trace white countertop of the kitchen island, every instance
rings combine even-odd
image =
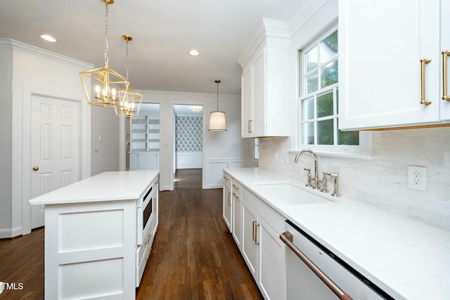
[[[139,199],[159,170],[103,172],[29,201],[30,205]]]

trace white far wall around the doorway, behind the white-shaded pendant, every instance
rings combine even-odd
[[[248,161],[252,140],[240,138],[240,96],[219,95],[219,110],[226,115],[227,131],[208,131],[210,112],[216,110],[217,94],[139,91],[144,103],[160,104],[160,188],[173,190],[174,170],[174,104],[203,105],[203,188],[210,184],[207,164],[214,159]]]

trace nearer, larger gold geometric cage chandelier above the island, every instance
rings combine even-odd
[[[108,4],[113,4],[114,0],[101,1],[105,2],[105,65],[79,72],[79,76],[89,104],[104,108],[120,107],[117,92],[123,89],[127,91],[129,81],[108,66]],[[95,84],[94,97],[87,90],[86,83]]]

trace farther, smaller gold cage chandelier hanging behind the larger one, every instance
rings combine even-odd
[[[129,41],[133,40],[133,37],[129,35],[122,35],[122,39],[127,41],[127,80],[128,80],[128,48]],[[115,107],[115,114],[120,117],[136,117],[139,115],[139,108],[141,107],[142,95],[133,89],[122,89],[119,91],[120,107]]]

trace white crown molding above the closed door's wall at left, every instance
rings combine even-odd
[[[42,58],[48,58],[50,60],[56,60],[60,63],[66,63],[68,65],[74,65],[76,67],[81,67],[84,69],[93,68],[94,65],[90,63],[84,63],[81,60],[76,60],[75,58],[69,58],[68,56],[63,56],[55,52],[51,52],[48,50],[44,50],[42,48],[38,48],[36,46],[31,46],[25,44],[21,41],[15,41],[14,39],[4,39],[0,38],[0,48],[11,48],[13,50],[24,51],[27,53],[32,53],[36,56],[40,56]]]

